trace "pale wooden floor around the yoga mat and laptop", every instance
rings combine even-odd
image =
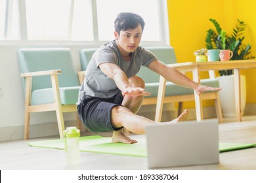
[[[223,124],[219,124],[219,141],[256,143],[256,116],[244,116],[242,120],[243,122],[234,122],[234,119],[224,119]],[[100,135],[110,136],[110,133],[103,133]],[[144,138],[143,135],[132,135],[132,137],[138,141],[139,139]],[[28,141],[1,142],[0,169],[148,169],[147,158],[94,154],[89,152],[81,152],[80,165],[70,166],[66,163],[66,154],[64,150],[35,148],[28,146],[29,141],[41,141],[56,138],[57,137],[30,139]],[[256,148],[223,152],[220,154],[219,158],[219,164],[190,167],[170,167],[165,169],[256,169]]]

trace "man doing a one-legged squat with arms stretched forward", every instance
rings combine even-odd
[[[150,95],[144,90],[142,78],[136,76],[141,65],[175,84],[194,89],[198,95],[208,90],[221,90],[190,80],[139,46],[143,29],[144,20],[138,14],[118,14],[114,31],[116,39],[102,45],[93,54],[79,91],[77,112],[83,124],[90,131],[113,131],[112,142],[137,142],[123,133],[123,127],[143,134],[146,125],[156,124],[137,115],[144,95]],[[184,120],[187,115],[188,110],[184,110],[170,123]]]

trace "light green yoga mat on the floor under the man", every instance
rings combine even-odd
[[[54,148],[64,150],[64,140],[56,139],[49,141],[29,142],[30,146],[40,148]],[[101,137],[99,135],[79,137],[80,150],[83,152],[95,152],[102,154],[116,154],[123,156],[146,157],[146,140],[139,139],[135,144],[112,143],[111,137]],[[219,151],[238,150],[249,148],[256,144],[235,144],[235,143],[219,143]]]

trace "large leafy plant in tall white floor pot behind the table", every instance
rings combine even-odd
[[[219,23],[214,19],[209,19],[213,25],[214,29],[209,29],[205,37],[206,48],[209,49],[221,49],[221,50],[231,50],[233,56],[230,60],[242,60],[242,59],[253,59],[251,56],[251,45],[243,44],[245,39],[244,30],[246,24],[244,22],[237,20],[236,27],[232,30],[232,34],[228,35],[226,31],[221,29]],[[236,109],[234,102],[234,76],[233,70],[223,70],[219,71],[220,77],[219,84],[222,90],[219,92],[221,99],[221,109],[223,110],[224,117],[236,116]],[[244,108],[246,103],[246,83],[245,76],[241,76],[241,97],[242,97],[242,114],[244,114]]]

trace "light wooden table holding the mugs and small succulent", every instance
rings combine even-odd
[[[232,61],[207,61],[207,62],[186,62],[170,64],[170,67],[186,72],[192,71],[193,80],[200,83],[200,72],[210,71],[210,77],[213,78],[214,71],[234,69],[234,92],[236,99],[236,120],[242,121],[241,109],[241,90],[240,90],[240,69],[250,69],[256,67],[256,59],[251,60],[232,60]],[[160,76],[160,86],[158,89],[158,102],[156,105],[156,121],[160,121],[163,107],[163,100],[165,95],[165,78]],[[203,120],[202,97],[194,93],[196,104],[196,120],[198,122]]]

